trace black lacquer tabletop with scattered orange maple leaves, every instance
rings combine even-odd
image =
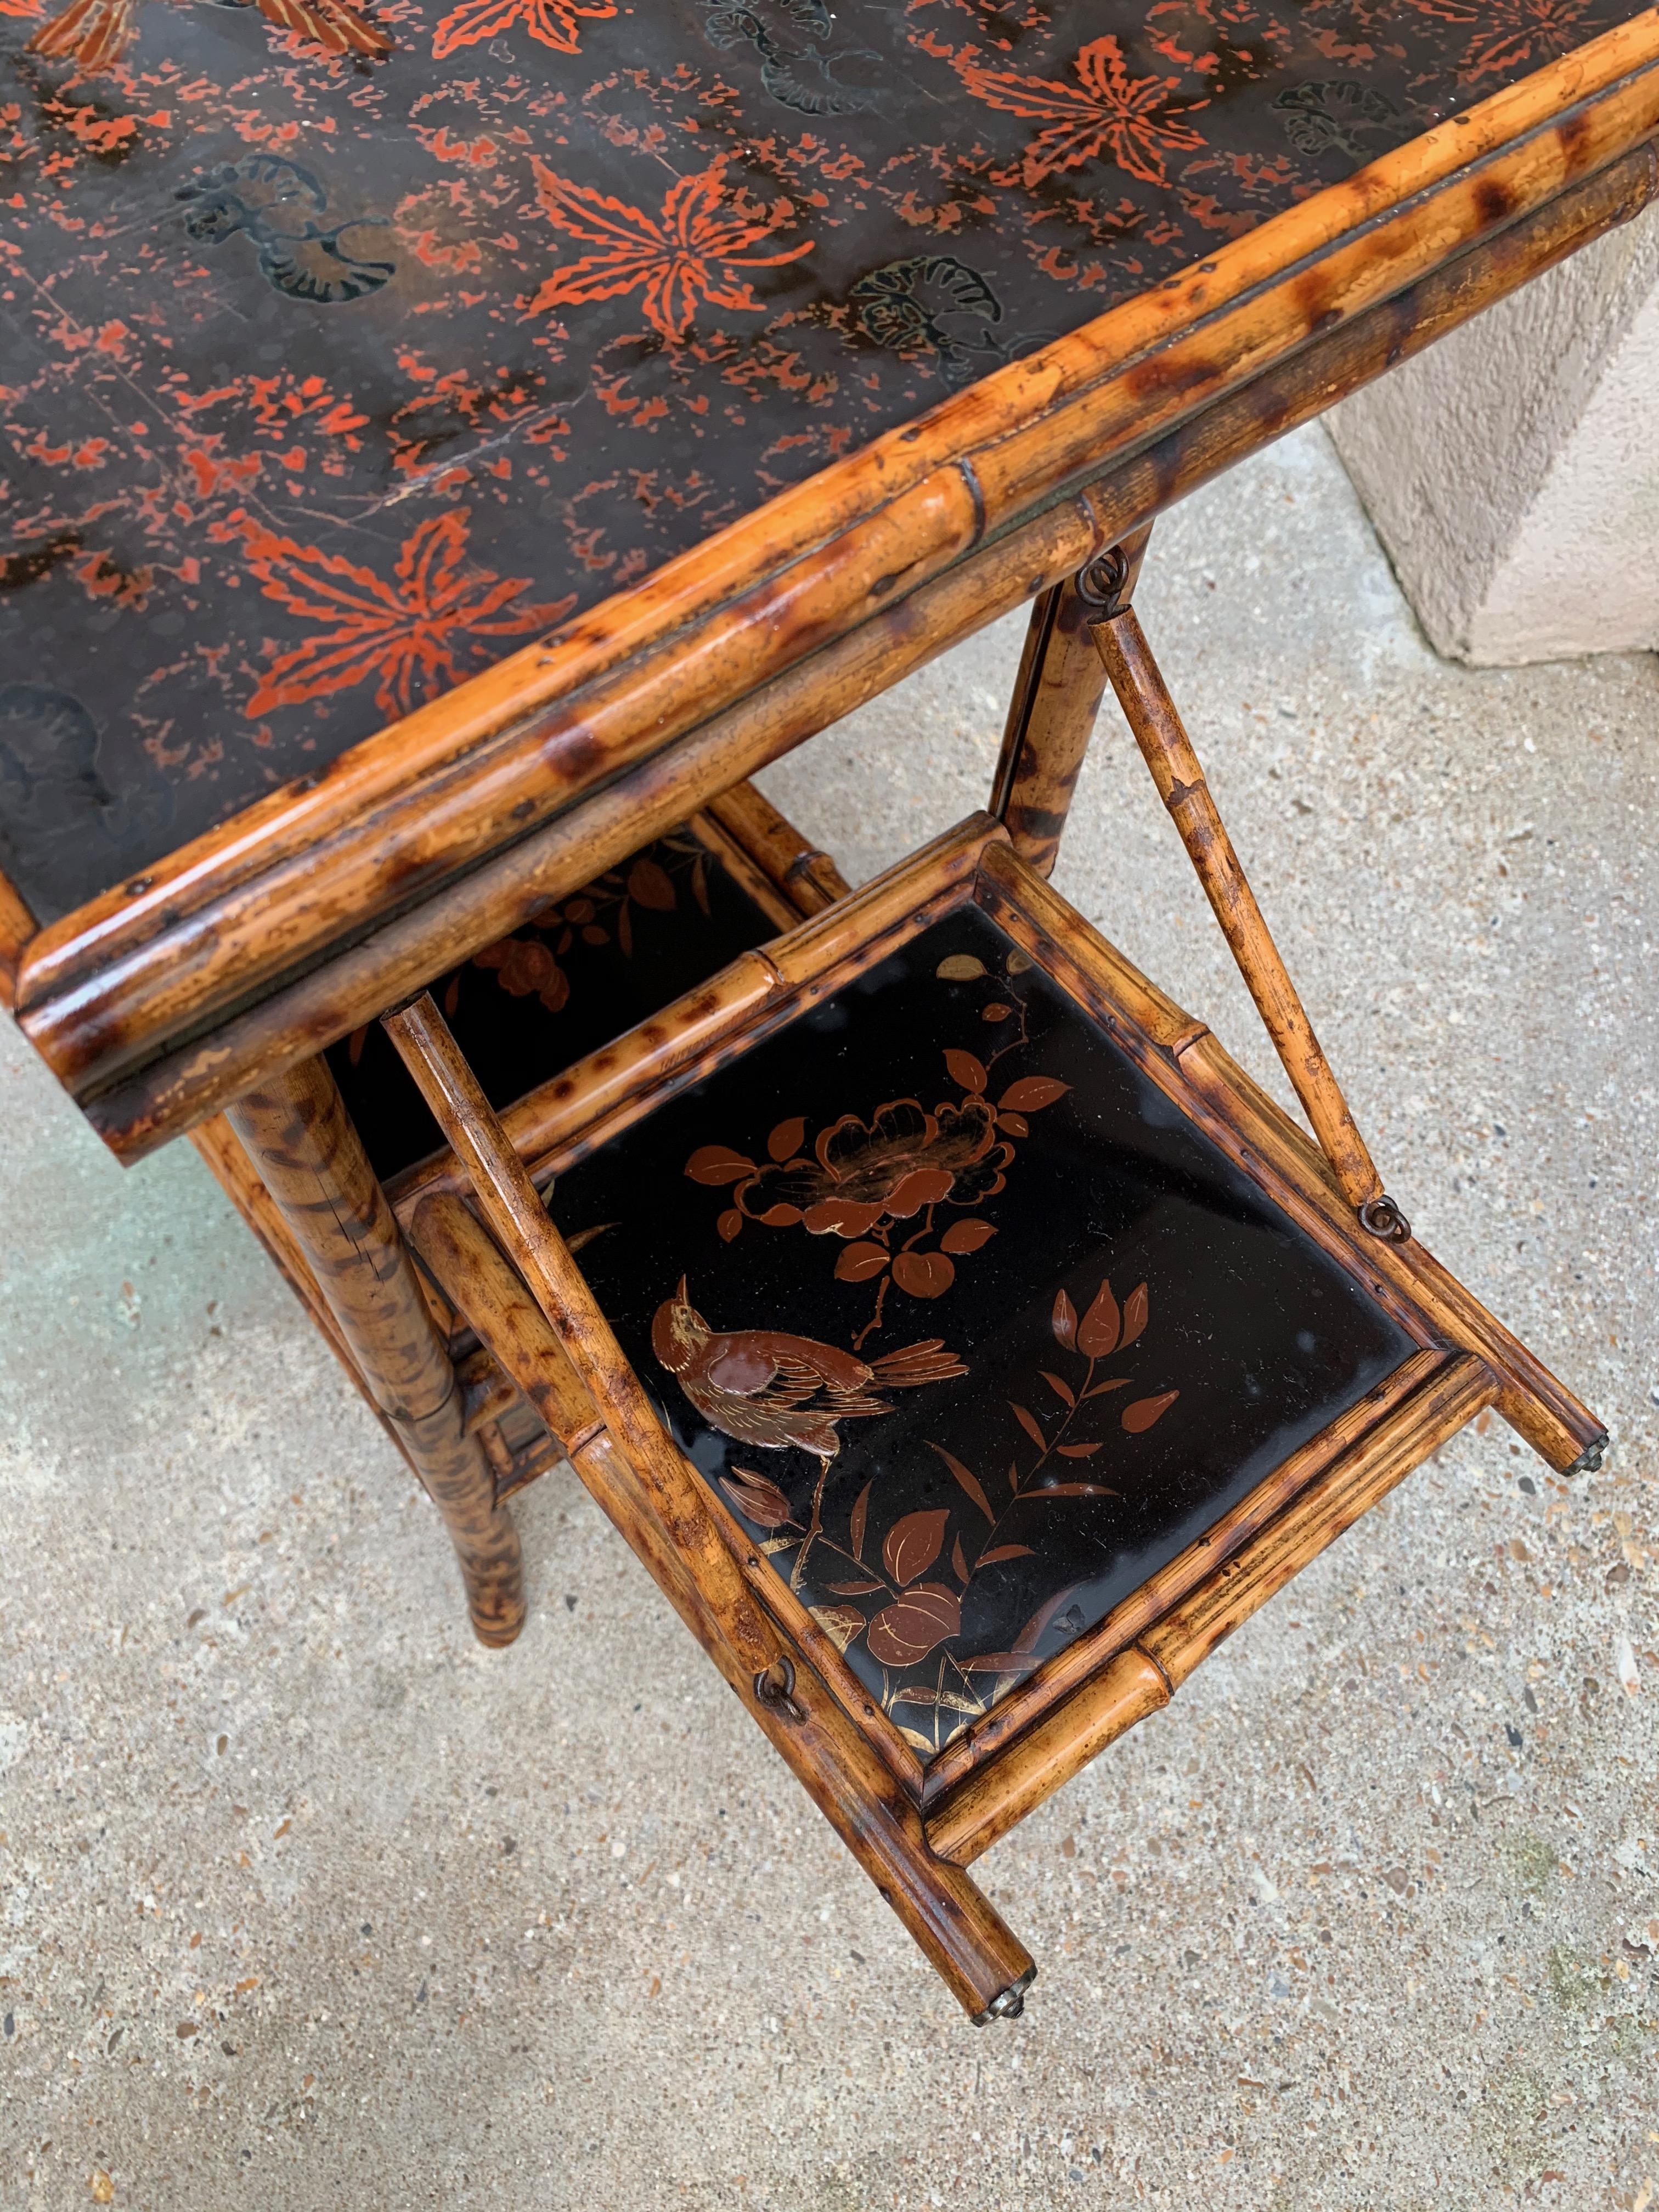
[[[0,0],[0,869],[62,914],[1630,13]]]

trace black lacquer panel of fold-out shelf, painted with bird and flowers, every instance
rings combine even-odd
[[[551,1203],[922,1759],[1416,1349],[978,909]]]

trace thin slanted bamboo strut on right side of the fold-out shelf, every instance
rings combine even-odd
[[[1117,701],[1152,770],[1159,799],[1170,810],[1199,883],[1250,987],[1274,1051],[1296,1086],[1314,1135],[1329,1159],[1343,1197],[1374,1237],[1405,1243],[1411,1234],[1400,1208],[1383,1190],[1383,1177],[1365,1150],[1314,1024],[1279,958],[1256,894],[1232,849],[1232,838],[1203,781],[1203,768],[1170,699],[1133,606],[1097,602],[1093,639],[1106,664]]]

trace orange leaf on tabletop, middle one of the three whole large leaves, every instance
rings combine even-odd
[[[619,299],[644,285],[650,327],[664,338],[684,338],[699,299],[743,314],[763,312],[763,301],[737,274],[739,270],[772,270],[812,252],[812,239],[781,254],[745,252],[787,223],[794,206],[779,199],[772,208],[763,208],[741,188],[728,195],[726,157],[692,177],[677,177],[661,215],[646,215],[644,208],[630,208],[588,184],[571,184],[540,161],[533,166],[546,219],[593,252],[555,268],[531,301],[531,314]]]

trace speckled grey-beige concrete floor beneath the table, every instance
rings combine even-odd
[[[1425,1241],[1606,1416],[1493,1422],[980,1867],[975,2033],[568,1475],[482,1652],[215,1183],[0,1044],[0,2201],[1646,2212],[1659,2188],[1659,661],[1442,666],[1321,434],[1141,611]],[[975,805],[1020,622],[772,772]],[[1126,734],[1062,887],[1272,1077]]]

